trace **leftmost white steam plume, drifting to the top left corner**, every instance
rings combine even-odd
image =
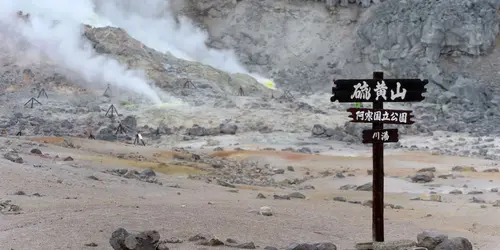
[[[81,23],[92,16],[93,8],[88,0],[3,0],[0,38],[5,41],[8,37],[18,37],[28,42],[58,67],[77,73],[88,83],[109,83],[161,103],[157,90],[153,90],[141,72],[127,70],[116,60],[97,55],[82,39]],[[30,13],[30,22],[21,21],[17,11]],[[54,20],[59,23],[55,25]]]

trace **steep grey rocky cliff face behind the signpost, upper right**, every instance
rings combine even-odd
[[[206,27],[215,48],[235,48],[285,88],[328,92],[333,78],[427,78],[420,117],[430,130],[500,130],[500,1],[173,1]],[[443,112],[441,112],[443,111]],[[453,126],[436,120],[453,119]],[[455,122],[456,121],[456,122]],[[485,124],[483,124],[485,123]]]

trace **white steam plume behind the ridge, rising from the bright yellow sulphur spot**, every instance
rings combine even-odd
[[[100,17],[125,29],[144,45],[160,52],[170,52],[175,57],[197,61],[229,73],[243,73],[258,82],[269,81],[249,72],[238,60],[233,50],[208,48],[207,32],[185,18],[176,22],[169,0],[94,0]]]

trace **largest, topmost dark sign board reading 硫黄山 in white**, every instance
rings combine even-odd
[[[420,102],[428,80],[420,79],[345,79],[335,80],[331,102]]]

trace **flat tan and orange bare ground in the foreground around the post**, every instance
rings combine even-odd
[[[72,148],[67,147],[68,140]],[[216,156],[223,162],[229,160],[222,158],[267,162],[277,173],[273,178],[278,183],[306,179],[299,184],[265,187],[193,178],[214,167],[189,161],[193,154],[184,152],[79,138],[3,137],[0,144],[4,145],[4,157],[0,159],[2,204],[10,200],[19,208],[12,213],[5,208],[7,205],[2,207],[2,249],[112,249],[109,238],[120,227],[130,231],[157,230],[164,239],[178,239],[169,241],[177,242],[168,244],[170,249],[203,249],[188,240],[197,234],[279,249],[293,242],[325,241],[335,243],[339,249],[353,249],[355,243],[371,239],[371,209],[366,202],[371,192],[345,188],[370,181],[369,157],[262,150],[198,150],[195,155],[202,159]],[[22,160],[16,160],[19,157]],[[424,167],[436,167],[436,176],[448,174],[459,162],[474,166],[477,172],[453,172],[453,178],[436,178],[428,186],[405,179]],[[465,187],[462,183],[474,190],[484,190],[483,182],[500,186],[500,174],[481,172],[494,164],[472,158],[389,151],[385,197],[392,205],[385,210],[387,240],[414,240],[422,230],[435,229],[467,237],[477,249],[495,249],[500,243],[500,219],[496,216],[499,208],[488,202],[500,199],[498,194],[457,195],[443,191],[446,185]],[[145,181],[148,176],[141,175],[151,174],[144,170],[150,167],[156,176],[154,181]],[[130,169],[135,174],[120,176],[114,169]],[[441,202],[423,195],[431,190],[442,193]],[[471,202],[472,196],[487,202]],[[272,208],[273,215],[260,215],[262,206]]]

